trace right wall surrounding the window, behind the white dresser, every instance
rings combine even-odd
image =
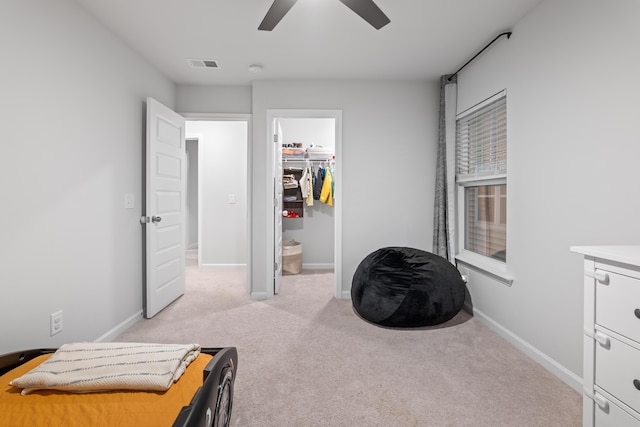
[[[549,0],[459,75],[459,111],[503,88],[512,287],[472,272],[480,318],[580,388],[582,261],[638,244],[640,2]]]

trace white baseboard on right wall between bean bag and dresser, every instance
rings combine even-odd
[[[486,325],[489,329],[511,343],[518,350],[522,351],[531,359],[542,365],[553,375],[560,378],[569,387],[582,394],[582,378],[580,378],[528,342],[524,341],[522,338],[515,335],[513,332],[509,331],[481,311],[474,309],[473,316],[477,318],[482,324]]]

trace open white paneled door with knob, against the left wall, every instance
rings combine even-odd
[[[144,316],[184,294],[184,118],[147,98]]]

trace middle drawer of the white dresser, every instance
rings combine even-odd
[[[640,350],[601,332],[597,335],[596,385],[640,412]]]

